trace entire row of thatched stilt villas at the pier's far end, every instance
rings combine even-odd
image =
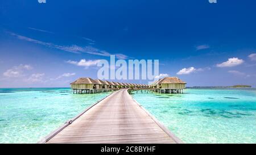
[[[75,94],[94,94],[115,91],[119,89],[130,89],[131,91],[148,90],[155,93],[172,94],[183,93],[185,82],[177,77],[165,77],[156,80],[151,85],[110,82],[101,79],[79,78],[71,83],[71,88]]]

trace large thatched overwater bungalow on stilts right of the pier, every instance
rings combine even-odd
[[[186,84],[177,77],[165,77],[153,82],[151,87],[156,89],[158,93],[183,93]]]

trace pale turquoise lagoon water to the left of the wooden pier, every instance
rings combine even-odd
[[[0,143],[37,143],[108,94],[68,88],[0,89]]]

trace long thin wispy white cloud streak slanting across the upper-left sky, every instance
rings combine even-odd
[[[44,41],[31,39],[31,38],[26,37],[26,36],[17,35],[16,33],[13,33],[13,32],[9,32],[9,33],[11,35],[17,37],[20,40],[30,41],[31,43],[44,45],[44,46],[49,47],[49,48],[60,49],[62,51],[66,51],[66,52],[88,53],[90,55],[98,55],[98,56],[106,56],[106,57],[109,57],[110,55],[112,55],[107,51],[103,51],[103,50],[100,50],[98,48],[94,48],[94,47],[91,47],[91,46],[80,47],[78,45],[71,45],[71,46],[56,45],[56,44],[53,44],[53,43],[47,43],[47,42],[44,42]],[[115,55],[117,58],[121,58],[121,59],[128,58],[128,56],[120,54],[120,53],[113,54],[113,55]]]

